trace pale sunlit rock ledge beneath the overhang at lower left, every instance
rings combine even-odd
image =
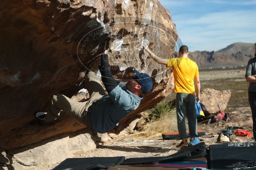
[[[86,128],[79,132],[59,135],[12,150],[8,154],[2,152],[0,163],[5,165],[15,163],[15,166],[19,167],[18,169],[23,166],[54,164],[73,157],[73,154],[95,149],[99,142],[102,142],[102,140],[107,142],[109,138],[107,133],[97,135],[92,128]]]

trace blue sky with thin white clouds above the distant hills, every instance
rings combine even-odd
[[[189,51],[256,42],[256,0],[158,0]]]

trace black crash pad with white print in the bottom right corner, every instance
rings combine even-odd
[[[256,170],[256,143],[210,145],[207,162],[212,170]]]

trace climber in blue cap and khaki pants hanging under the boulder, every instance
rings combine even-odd
[[[100,62],[98,60],[96,63],[108,94],[96,75],[90,71],[84,79],[85,88],[90,95],[88,101],[76,102],[67,96],[54,94],[50,98],[47,112],[34,113],[36,119],[50,122],[59,117],[60,111],[63,110],[87,127],[93,127],[99,133],[106,133],[115,128],[132,110],[137,109],[143,98],[141,95],[152,89],[152,78],[136,69],[132,80],[127,83],[116,81],[110,71],[107,50],[100,55]]]

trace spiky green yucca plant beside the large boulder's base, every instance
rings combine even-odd
[[[152,108],[151,113],[148,115],[148,119],[159,119],[162,114],[170,114],[176,110],[175,99],[168,103],[158,103]]]

